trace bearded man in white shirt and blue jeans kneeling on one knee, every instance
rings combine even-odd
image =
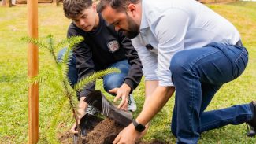
[[[255,130],[256,102],[204,112],[217,90],[247,66],[247,50],[228,20],[195,0],[101,0],[98,10],[134,38],[150,95],[113,143],[135,143],[175,90],[171,129],[177,143],[197,143],[203,131],[227,124],[246,122]]]

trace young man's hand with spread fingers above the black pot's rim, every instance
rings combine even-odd
[[[122,101],[118,105],[119,109],[127,110],[128,96],[130,91],[131,87],[129,87],[126,83],[122,84],[122,86],[119,88],[113,88],[112,90],[109,90],[110,93],[117,94],[113,102],[116,102],[118,98],[122,98]]]

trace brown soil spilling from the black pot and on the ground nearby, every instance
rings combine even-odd
[[[106,118],[102,120],[92,131],[88,131],[87,136],[83,138],[83,143],[86,144],[111,144],[118,135],[118,133],[124,127],[120,124],[115,123],[114,120]],[[59,137],[61,143],[72,143],[72,133],[66,132]],[[153,142],[136,142],[136,144],[164,144],[165,142],[160,142],[154,140]]]

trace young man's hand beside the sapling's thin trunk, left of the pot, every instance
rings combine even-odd
[[[86,102],[84,102],[85,97],[81,97],[79,104],[78,104],[78,109],[77,109],[77,123],[80,124],[80,120],[81,118],[86,114],[85,113],[85,109],[87,109],[88,105]],[[73,124],[73,126],[71,127],[71,130],[73,134],[77,134],[78,131],[76,131],[76,123]]]

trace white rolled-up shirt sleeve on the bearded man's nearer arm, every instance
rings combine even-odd
[[[159,86],[174,86],[170,63],[173,55],[184,50],[184,37],[187,33],[189,16],[180,9],[171,9],[161,13],[161,17],[152,20],[156,26],[154,33],[158,39],[158,70]]]

